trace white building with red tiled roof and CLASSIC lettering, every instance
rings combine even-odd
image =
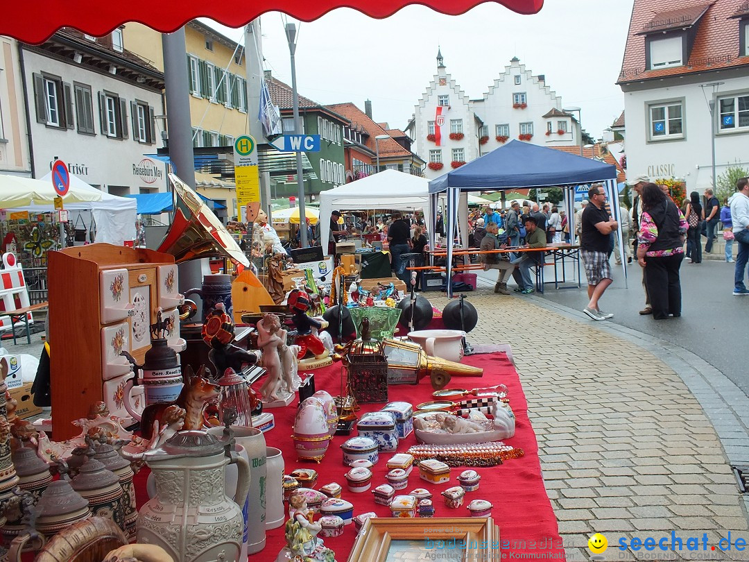
[[[749,167],[749,4],[635,0],[622,70],[627,174],[712,187]],[[712,107],[712,116],[711,116]]]

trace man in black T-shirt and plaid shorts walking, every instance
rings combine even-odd
[[[588,297],[590,302],[583,309],[593,320],[613,318],[611,312],[598,308],[598,299],[611,284],[611,266],[608,261],[610,234],[619,228],[616,220],[604,208],[606,190],[602,184],[592,184],[588,190],[590,204],[581,217],[580,255],[585,264],[585,276],[588,278]]]

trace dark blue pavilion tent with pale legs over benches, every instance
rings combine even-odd
[[[460,168],[440,175],[429,182],[432,208],[437,208],[437,197],[446,193],[447,234],[447,292],[452,296],[452,244],[458,225],[458,198],[464,191],[496,191],[527,189],[534,187],[561,187],[565,193],[565,208],[570,232],[574,232],[574,188],[580,184],[601,183],[607,191],[611,213],[619,221],[619,192],[616,188],[616,166],[557,151],[554,148],[531,145],[512,140]],[[436,217],[431,217],[434,232]],[[622,232],[619,236],[619,252],[622,253]],[[625,280],[627,270],[624,268]]]

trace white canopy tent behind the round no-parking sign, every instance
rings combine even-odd
[[[49,184],[52,189],[52,172],[41,178],[40,183]],[[122,246],[126,240],[136,238],[136,208],[138,202],[127,197],[118,197],[91,187],[78,176],[70,174],[70,190],[76,193],[88,193],[91,201],[70,203],[63,199],[64,208],[68,211],[91,211],[96,223],[96,238],[94,242],[106,242],[115,246]],[[98,197],[98,199],[96,199]],[[34,213],[53,210],[52,203],[46,205],[30,205],[24,208]]]

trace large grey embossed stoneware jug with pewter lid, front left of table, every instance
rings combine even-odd
[[[143,455],[156,479],[157,495],[140,510],[138,543],[161,546],[180,562],[239,560],[249,463],[234,452],[233,444],[230,438],[190,430],[175,433]],[[233,500],[226,496],[224,482],[230,462],[239,468]]]

